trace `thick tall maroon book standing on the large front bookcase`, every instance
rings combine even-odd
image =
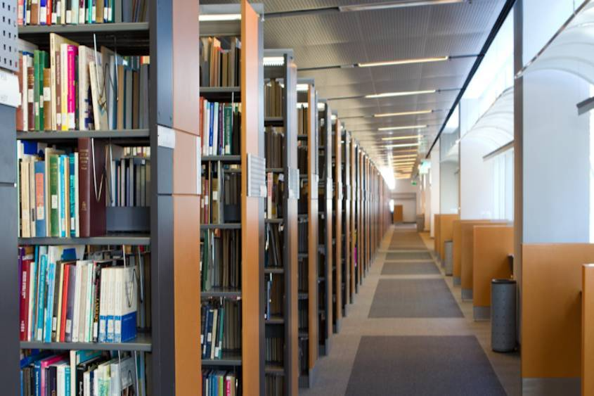
[[[80,236],[105,235],[105,142],[78,139]],[[103,188],[101,188],[103,186]]]

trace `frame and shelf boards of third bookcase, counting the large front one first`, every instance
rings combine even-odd
[[[266,320],[266,336],[284,338],[283,364],[279,367],[266,365],[266,376],[284,376],[283,395],[297,395],[299,392],[299,326],[297,319],[297,199],[299,198],[299,170],[297,169],[297,65],[290,49],[264,50],[265,59],[282,58],[283,62],[264,66],[265,79],[278,79],[283,82],[282,116],[265,117],[266,127],[282,127],[282,168],[277,172],[283,174],[283,213],[280,222],[269,226],[283,228],[283,262],[282,272],[266,274],[264,277],[281,278],[283,285],[283,315],[280,318]],[[267,172],[270,169],[268,161]],[[266,220],[268,222],[268,220]],[[266,269],[265,269],[266,272]],[[273,280],[274,281],[274,280]],[[265,290],[262,290],[265,293]],[[278,320],[282,319],[282,320]],[[266,390],[266,395],[274,395],[273,390]],[[278,395],[280,396],[280,395]]]

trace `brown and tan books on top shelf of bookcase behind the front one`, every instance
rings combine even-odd
[[[200,39],[200,87],[239,87],[241,42],[237,37]]]

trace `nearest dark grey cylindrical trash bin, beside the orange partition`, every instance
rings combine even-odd
[[[491,281],[491,349],[511,352],[516,347],[516,281]]]

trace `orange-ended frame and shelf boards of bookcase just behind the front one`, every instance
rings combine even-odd
[[[241,43],[240,87],[204,87],[200,94],[208,101],[241,102],[240,155],[203,157],[202,162],[240,165],[241,193],[240,290],[228,293],[202,293],[202,300],[231,298],[241,302],[241,351],[223,354],[223,359],[202,359],[202,367],[238,373],[243,395],[264,393],[264,46],[262,41],[262,4],[217,4],[200,7],[202,15],[240,14],[240,20],[214,20],[200,23],[200,37],[239,37]],[[195,111],[192,110],[192,111]],[[249,180],[249,183],[248,183]],[[248,189],[250,189],[248,191]],[[227,224],[209,229],[228,229]],[[207,227],[202,227],[206,230]],[[195,342],[198,342],[196,340]],[[196,373],[194,373],[196,375]]]

